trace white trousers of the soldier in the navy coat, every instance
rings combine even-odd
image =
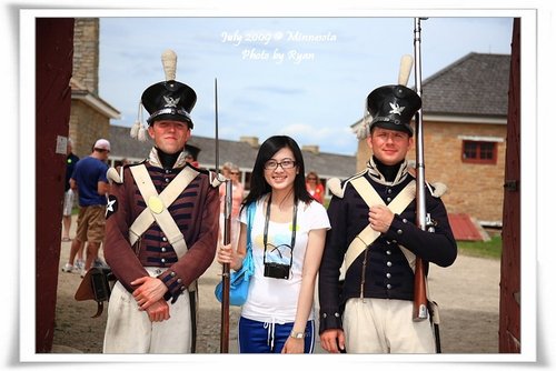
[[[354,298],[346,302],[344,333],[348,353],[435,353],[429,319],[413,321],[413,302]]]

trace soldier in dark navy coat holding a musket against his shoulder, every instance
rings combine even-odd
[[[375,89],[367,97],[373,156],[364,171],[329,181],[331,229],[318,283],[320,344],[328,352],[436,351],[431,322],[413,320],[411,263],[419,257],[426,267],[448,267],[457,245],[440,188],[426,187],[434,232],[416,225],[415,178],[406,156],[420,107],[419,96],[404,86]]]

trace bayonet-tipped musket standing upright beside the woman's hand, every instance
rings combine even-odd
[[[218,82],[215,79],[215,138],[216,138],[216,171],[219,172],[219,146],[218,146]],[[226,197],[224,203],[224,244],[230,243],[231,230],[231,181],[226,179]],[[230,338],[230,264],[222,264],[222,303],[220,318],[220,353],[228,353]]]

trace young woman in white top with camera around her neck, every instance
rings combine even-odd
[[[330,222],[306,189],[301,150],[290,137],[270,137],[259,149],[241,207],[238,249],[226,245],[217,253],[234,270],[246,254],[246,211],[252,202],[255,274],[241,308],[239,352],[311,353],[315,283]]]

